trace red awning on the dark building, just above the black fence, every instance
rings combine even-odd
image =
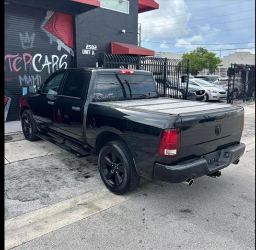
[[[154,56],[155,51],[140,47],[136,44],[111,42],[111,54]]]

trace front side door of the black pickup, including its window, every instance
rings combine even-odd
[[[60,93],[65,71],[57,72],[48,78],[39,94],[34,96],[32,111],[40,128],[52,128],[55,116],[56,96]]]

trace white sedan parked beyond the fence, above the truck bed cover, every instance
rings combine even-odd
[[[189,83],[191,85],[199,86],[205,90],[205,98],[203,99],[204,102],[210,100],[221,100],[227,98],[227,92],[225,89],[220,88],[218,86],[214,86],[212,83],[207,82],[202,79],[189,79]]]

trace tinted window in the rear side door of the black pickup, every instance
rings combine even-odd
[[[71,97],[82,97],[84,85],[88,85],[89,72],[68,72],[64,83],[62,95]]]

